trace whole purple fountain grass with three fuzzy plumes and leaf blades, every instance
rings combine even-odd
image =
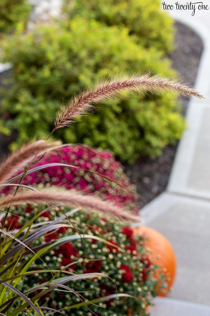
[[[164,91],[173,91],[173,92],[184,94],[188,97],[190,96],[195,96],[198,98],[203,97],[200,93],[196,92],[194,89],[186,85],[183,85],[180,82],[170,81],[169,79],[161,78],[160,76],[150,76],[149,74],[141,75],[139,73],[134,74],[132,76],[128,76],[127,74],[116,76],[113,79],[99,82],[94,88],[86,89],[85,91],[75,95],[67,106],[62,106],[60,109],[60,112],[58,112],[55,118],[54,130],[50,133],[48,138],[53,134],[53,132],[56,129],[70,125],[73,122],[73,118],[82,116],[86,112],[90,112],[93,109],[94,104],[96,104],[97,102],[109,100],[116,96],[120,96],[123,94],[123,92],[139,93],[139,92],[144,92],[144,91],[155,92],[155,93],[161,93]],[[131,211],[128,211],[126,208],[121,207],[118,204],[111,203],[110,201],[102,200],[93,194],[84,194],[81,191],[65,190],[65,189],[60,189],[58,187],[46,188],[46,189],[42,189],[42,191],[38,191],[36,188],[32,188],[29,186],[26,186],[27,189],[30,189],[28,191],[26,191],[25,189],[18,191],[19,187],[23,187],[21,183],[25,175],[27,174],[27,171],[31,167],[31,164],[36,160],[36,157],[38,158],[40,155],[44,155],[48,150],[54,149],[55,147],[58,146],[58,144],[60,144],[58,142],[49,142],[48,138],[46,141],[38,141],[36,143],[23,146],[21,149],[13,153],[8,159],[5,160],[5,162],[3,162],[0,165],[0,184],[5,184],[5,185],[6,185],[7,180],[9,179],[11,180],[11,177],[16,175],[16,173],[21,168],[24,168],[24,173],[21,174],[19,184],[17,184],[17,188],[14,194],[13,195],[6,194],[6,196],[2,196],[0,198],[0,209],[8,207],[6,214],[3,218],[2,229],[0,229],[0,239],[1,239],[1,234],[3,233],[3,237],[4,237],[3,244],[5,246],[10,247],[10,245],[7,245],[8,241],[5,238],[5,236],[10,236],[12,238],[14,237],[6,230],[3,230],[5,224],[8,225],[7,229],[11,228],[11,223],[9,224],[9,222],[7,221],[7,216],[10,213],[9,210],[10,210],[11,205],[21,205],[21,204],[28,204],[28,203],[29,204],[30,203],[32,204],[47,203],[53,206],[68,205],[70,207],[81,208],[87,212],[99,213],[101,217],[109,217],[109,219],[110,217],[114,217],[114,218],[117,217],[119,220],[126,221],[126,222],[140,221],[138,216],[134,215]],[[11,180],[10,182],[13,182],[13,180]],[[9,185],[15,185],[15,184],[12,183]],[[39,215],[40,214],[37,213],[37,216]],[[66,214],[66,217],[67,215],[68,213]],[[60,225],[63,226],[60,220],[57,218],[57,221],[59,222],[59,224],[56,222],[53,226],[52,225],[54,223],[53,221],[51,224],[50,223],[49,225],[47,224],[47,227],[45,227],[46,229],[41,229],[37,231],[36,233],[34,233],[34,231],[32,231],[33,221],[34,219],[32,218],[28,223],[25,224],[26,226],[23,227],[23,229],[26,228],[26,232],[24,232],[25,239],[23,240],[25,240],[26,242],[30,241],[30,243],[33,240],[36,240],[37,238],[39,238],[41,235],[51,231],[52,228],[57,228],[57,226],[60,227]],[[73,223],[72,225],[76,229]],[[19,230],[19,232],[21,233],[21,229]],[[15,239],[15,242],[16,241],[17,239]],[[63,240],[61,240],[61,242],[64,243]],[[1,262],[4,263],[5,267],[3,267],[4,270],[1,271],[1,275],[6,277],[6,280],[2,279],[3,281],[1,281],[2,284],[5,286],[5,288],[3,288],[3,295],[1,295],[1,297],[3,298],[4,294],[6,294],[6,299],[7,299],[8,294],[10,295],[9,291],[11,292],[13,291],[14,293],[19,295],[26,301],[25,304],[17,308],[17,314],[21,313],[25,309],[25,307],[27,307],[28,305],[31,305],[32,309],[34,309],[34,311],[38,315],[41,315],[41,313],[37,309],[38,307],[36,307],[33,304],[33,299],[38,300],[43,295],[48,294],[48,292],[50,292],[51,289],[43,289],[41,293],[35,295],[32,299],[29,299],[27,296],[23,295],[18,289],[15,289],[12,284],[6,282],[6,281],[9,281],[13,283],[13,277],[7,279],[8,275],[12,276],[14,274],[14,271],[15,273],[17,273],[17,271],[18,273],[21,273],[22,271],[21,260],[22,260],[22,255],[24,254],[24,252],[22,252],[22,248],[20,247],[20,245],[16,245],[14,243],[14,240],[11,241],[11,243],[12,243],[12,246],[14,244],[14,247],[12,247],[12,249],[9,249],[7,247],[2,247],[2,250],[4,253],[1,253]],[[24,243],[22,241],[19,241],[19,243],[24,246]],[[44,246],[46,245],[49,246],[48,243],[44,244]],[[40,247],[40,245],[38,245],[37,247]],[[43,244],[41,245],[41,247],[43,247]],[[39,249],[42,249],[42,248],[36,248],[37,251]],[[15,256],[14,256],[14,253],[15,253]],[[17,264],[19,260],[21,263],[20,265]],[[90,274],[85,274],[84,278],[87,278],[88,275]],[[96,274],[94,274],[94,277],[95,275]],[[79,277],[81,276],[80,275],[73,276],[71,278],[79,279]],[[61,281],[61,282],[62,284],[64,284],[67,281],[68,280],[65,279],[65,281]],[[43,285],[45,284],[42,284],[42,287]],[[53,286],[55,288],[57,287],[57,284]],[[37,287],[37,289],[39,289],[39,287]],[[8,294],[6,293],[6,291],[8,291]],[[124,294],[121,294],[121,295],[124,295]],[[16,297],[12,297],[7,301],[3,300],[3,304],[1,306],[2,307],[5,306],[5,308],[2,310],[2,313],[0,313],[0,315],[3,315],[4,311],[7,312],[9,310],[15,298]],[[13,311],[12,311],[12,314],[14,315]]]

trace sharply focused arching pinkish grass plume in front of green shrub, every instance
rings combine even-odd
[[[172,91],[188,97],[203,98],[193,88],[176,80],[169,80],[158,75],[150,76],[148,73],[143,75],[137,73],[131,76],[127,74],[117,75],[114,78],[99,82],[93,88],[86,89],[74,95],[67,106],[61,106],[60,111],[55,117],[54,130],[68,126],[73,122],[73,118],[91,112],[95,103],[122,96],[123,91],[129,93],[148,91],[157,94]]]

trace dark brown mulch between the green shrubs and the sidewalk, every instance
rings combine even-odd
[[[179,78],[194,86],[199,61],[202,53],[201,39],[188,27],[176,23],[176,50],[170,55],[173,68],[179,73]],[[183,114],[186,112],[188,99],[182,98]],[[125,166],[131,182],[137,186],[139,195],[146,203],[153,200],[166,190],[178,144],[167,146],[161,156],[151,159],[143,157],[134,165]],[[140,206],[145,201],[140,199]]]

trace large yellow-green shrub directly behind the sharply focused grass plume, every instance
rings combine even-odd
[[[3,61],[13,64],[14,84],[3,98],[0,131],[17,129],[17,143],[53,129],[54,111],[73,92],[117,71],[152,70],[174,74],[170,61],[155,48],[145,49],[126,28],[107,27],[76,17],[61,25],[38,27],[33,33],[7,38]],[[175,97],[133,95],[100,106],[72,129],[55,136],[68,143],[109,148],[121,161],[155,156],[181,135],[184,120]],[[4,120],[4,117],[7,120]],[[9,117],[9,118],[8,118]]]

